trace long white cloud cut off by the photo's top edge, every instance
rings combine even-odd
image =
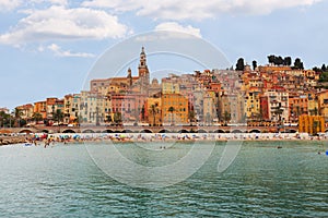
[[[87,0],[83,7],[107,8],[118,12],[136,11],[137,15],[150,16],[154,20],[203,20],[221,14],[269,14],[276,10],[307,7],[323,0]]]

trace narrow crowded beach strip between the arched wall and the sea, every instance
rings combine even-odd
[[[0,146],[61,142],[172,143],[172,142],[328,142],[328,135],[298,133],[56,133],[0,136]]]

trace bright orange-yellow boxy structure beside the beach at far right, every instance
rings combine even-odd
[[[325,119],[321,116],[306,116],[303,114],[298,119],[298,132],[308,133],[315,135],[317,133],[324,133],[325,129]]]

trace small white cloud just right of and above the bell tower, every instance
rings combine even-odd
[[[190,34],[190,35],[201,38],[199,28],[195,28],[190,25],[181,26],[180,24],[175,23],[175,22],[161,23],[155,27],[155,31],[181,32],[181,33]]]

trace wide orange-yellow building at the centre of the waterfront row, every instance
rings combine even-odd
[[[179,94],[164,94],[162,121],[164,125],[188,124],[188,98]]]

